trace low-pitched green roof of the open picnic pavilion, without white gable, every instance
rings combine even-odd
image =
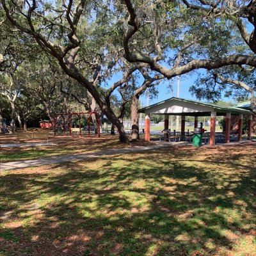
[[[182,98],[177,98],[177,97],[172,97],[170,99],[163,100],[163,101],[158,102],[156,104],[152,104],[151,106],[141,108],[141,109],[138,110],[138,112],[139,113],[145,113],[145,111],[147,111],[147,109],[150,109],[154,106],[159,106],[159,105],[164,104],[165,102],[168,102],[170,100],[179,100],[181,102],[189,102],[189,103],[193,103],[193,104],[198,104],[200,106],[207,106],[207,107],[210,107],[210,108],[214,108],[214,110],[217,113],[221,114],[221,115],[223,115],[223,113],[234,113],[234,114],[245,114],[245,115],[246,114],[247,115],[252,114],[252,111],[243,109],[241,107],[238,108],[237,106],[220,106],[220,105],[217,105],[217,104],[214,104],[214,103],[200,102],[199,100],[189,100],[189,99],[182,99]],[[206,113],[208,113],[208,112],[205,112],[205,114]],[[161,114],[158,114],[158,115],[161,115]],[[200,113],[196,112],[196,113],[194,113],[194,115],[200,116]]]

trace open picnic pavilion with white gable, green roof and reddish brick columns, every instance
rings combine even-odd
[[[169,127],[169,116],[182,116],[181,133],[185,132],[186,116],[195,116],[194,127],[198,127],[198,116],[211,116],[210,141],[211,146],[215,145],[216,116],[225,116],[226,131],[225,143],[230,142],[230,120],[231,115],[239,116],[237,141],[242,139],[243,116],[248,116],[248,140],[251,140],[253,112],[243,106],[219,106],[217,104],[200,102],[197,100],[181,99],[172,97],[153,104],[146,108],[139,109],[139,113],[145,113],[145,141],[150,140],[150,115],[164,115],[164,129]]]

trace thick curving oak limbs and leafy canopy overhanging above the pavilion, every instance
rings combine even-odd
[[[220,73],[216,77],[221,83],[248,90],[251,108],[256,112],[253,85],[248,86],[244,81],[238,81],[236,76],[227,77],[227,72],[225,77],[221,76],[223,67],[230,65],[237,65],[247,72],[253,72],[256,67],[255,0],[143,3],[125,0],[125,4],[129,12],[124,34],[127,60],[132,63],[146,63],[152,70],[169,79],[199,68],[214,70],[215,74]],[[246,25],[246,21],[250,26]],[[173,22],[179,24],[179,29],[172,25]],[[250,33],[248,28],[251,28]],[[145,30],[158,39],[148,47],[145,47],[148,34],[141,33]],[[240,74],[243,75],[243,72]],[[212,88],[208,89],[211,91]]]

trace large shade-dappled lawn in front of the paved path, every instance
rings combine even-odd
[[[255,145],[2,172],[0,255],[256,255]]]

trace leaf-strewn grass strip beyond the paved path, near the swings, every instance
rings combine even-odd
[[[1,143],[15,143],[15,138],[15,135],[2,137],[0,135]],[[30,143],[35,141],[24,140],[21,142]],[[102,134],[100,138],[98,138],[97,135],[92,135],[90,138],[87,136],[50,136],[49,142],[56,143],[56,145],[41,147],[0,148],[0,163],[38,159],[42,157],[63,156],[65,154],[92,153],[100,150],[133,147],[134,145],[134,143],[129,143],[127,145],[124,143],[119,143],[118,136],[110,136],[106,134]],[[136,145],[140,145],[140,142],[136,143]]]

